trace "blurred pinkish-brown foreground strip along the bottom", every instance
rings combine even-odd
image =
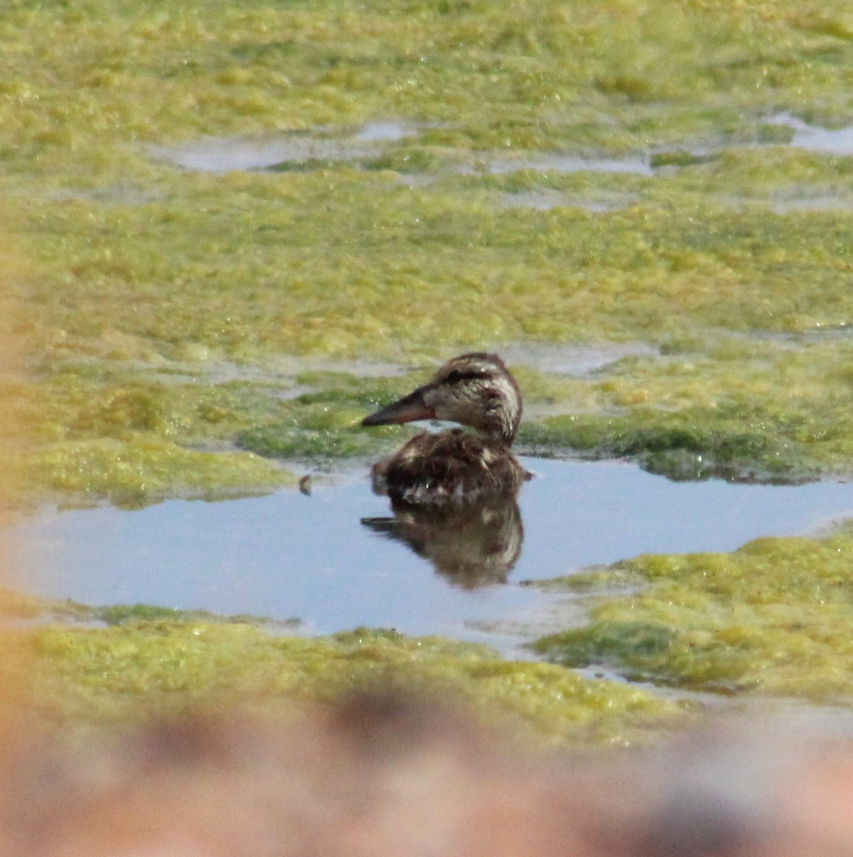
[[[5,738],[7,857],[853,854],[853,740],[764,721],[522,758],[459,713],[379,692],[284,719]]]

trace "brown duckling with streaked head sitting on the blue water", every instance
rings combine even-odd
[[[370,414],[363,426],[443,420],[472,428],[416,434],[373,465],[373,490],[411,506],[514,497],[531,478],[510,452],[521,422],[518,383],[496,354],[462,354],[430,381]]]

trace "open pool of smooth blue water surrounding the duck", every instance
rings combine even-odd
[[[27,570],[11,581],[21,590],[87,604],[296,617],[312,633],[395,627],[509,652],[519,640],[508,626],[565,600],[520,586],[526,578],[646,552],[728,551],[757,536],[802,534],[853,517],[853,483],[670,482],[617,462],[525,463],[538,476],[520,495],[520,556],[514,567],[483,576],[507,584],[475,586],[482,578],[454,578],[447,564],[437,572],[424,555],[440,557],[441,545],[421,538],[418,555],[388,537],[387,499],[370,493],[363,473],[315,482],[310,496],[291,490],[170,500],[140,511],[46,511],[15,527],[7,567]],[[510,549],[508,562],[513,555]]]

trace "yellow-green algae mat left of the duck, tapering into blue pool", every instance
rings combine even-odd
[[[192,448],[218,439],[216,428],[230,408],[246,406],[247,396],[227,399],[198,384],[140,380],[138,373],[104,376],[85,367],[66,367],[16,393],[35,441],[29,457],[34,490],[138,506],[165,496],[217,498],[295,482],[288,470],[248,452]]]

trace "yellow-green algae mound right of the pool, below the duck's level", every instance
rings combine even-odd
[[[849,705],[851,572],[850,525],[821,538],[762,538],[731,554],[643,555],[547,584],[586,592],[591,619],[534,647],[634,679]]]

